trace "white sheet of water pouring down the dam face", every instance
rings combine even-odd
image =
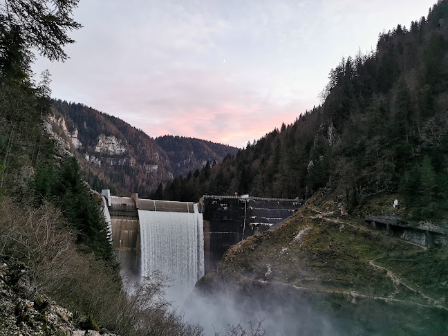
[[[192,203],[189,203],[192,204]],[[154,270],[171,280],[169,301],[181,304],[204,275],[203,215],[194,204],[189,212],[138,210],[140,220],[140,274]]]

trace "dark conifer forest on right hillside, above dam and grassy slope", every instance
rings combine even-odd
[[[176,178],[158,196],[308,198],[341,189],[348,209],[400,192],[413,216],[446,217],[448,2],[380,35],[375,51],[330,71],[322,104],[212,169]],[[174,192],[176,191],[176,192]]]

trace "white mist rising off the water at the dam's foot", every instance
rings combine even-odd
[[[263,321],[265,335],[342,335],[326,314],[311,308],[299,296],[288,297],[287,293],[274,288],[254,290],[216,290],[203,294],[194,290],[178,312],[185,321],[199,323],[205,335],[225,335],[227,326],[241,324],[246,330]],[[249,334],[250,335],[250,334]],[[360,334],[362,335],[362,334]]]

